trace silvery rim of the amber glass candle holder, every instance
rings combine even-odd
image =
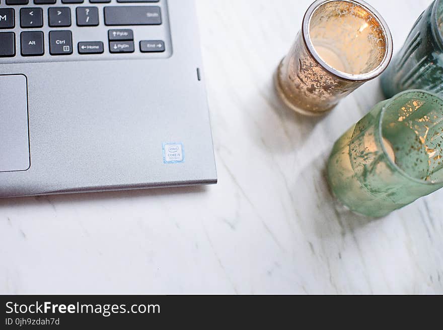
[[[386,50],[385,50],[385,56],[383,57],[383,60],[380,62],[380,64],[375,68],[374,70],[370,72],[360,73],[360,74],[352,74],[352,73],[346,73],[343,71],[339,71],[334,69],[332,66],[328,65],[322,58],[318,55],[314,44],[312,43],[311,36],[310,36],[310,27],[311,27],[311,20],[313,14],[317,11],[317,9],[324,4],[331,3],[331,2],[346,2],[346,3],[352,3],[359,7],[362,7],[367,12],[374,15],[374,18],[379,22],[380,26],[383,29],[384,35],[385,35],[385,42],[386,42]],[[305,45],[308,48],[309,53],[312,55],[312,57],[329,73],[350,81],[368,81],[371,79],[374,79],[381,75],[383,71],[386,70],[388,67],[392,55],[393,55],[393,43],[392,43],[392,35],[391,30],[388,27],[388,24],[383,19],[383,17],[377,12],[371,5],[365,3],[363,0],[316,0],[307,10],[304,18],[303,18],[303,25],[302,25],[302,35],[305,42]]]

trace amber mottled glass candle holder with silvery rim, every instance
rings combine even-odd
[[[380,75],[392,57],[391,32],[363,1],[318,0],[275,75],[283,102],[320,116],[364,82]]]

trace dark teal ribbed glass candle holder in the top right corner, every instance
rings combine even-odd
[[[443,93],[443,0],[420,15],[381,83],[388,98],[408,89]]]

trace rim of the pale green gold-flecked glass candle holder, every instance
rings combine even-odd
[[[437,98],[438,100],[440,100],[440,102],[443,104],[443,98],[441,96],[439,96],[438,94],[429,92],[427,90],[423,90],[423,89],[409,89],[409,90],[405,90],[402,91],[396,95],[394,95],[392,98],[385,100],[385,104],[383,104],[382,110],[380,111],[380,114],[378,116],[378,132],[377,134],[375,134],[375,138],[376,141],[381,145],[382,147],[382,151],[383,154],[385,155],[385,158],[388,160],[388,164],[391,166],[392,169],[394,169],[395,171],[397,171],[398,173],[400,173],[402,176],[406,177],[408,180],[411,180],[413,182],[417,182],[419,184],[424,184],[424,185],[428,185],[428,186],[435,186],[435,185],[439,185],[443,183],[443,178],[437,181],[426,181],[426,180],[420,180],[417,178],[414,178],[413,176],[409,175],[408,173],[406,173],[401,167],[399,167],[395,161],[393,161],[391,159],[391,157],[389,157],[388,151],[386,150],[385,144],[383,143],[383,118],[387,112],[387,109],[390,105],[392,105],[392,103],[400,98],[401,96],[404,96],[405,94],[413,94],[413,93],[422,93],[422,94],[428,94],[432,97]]]

